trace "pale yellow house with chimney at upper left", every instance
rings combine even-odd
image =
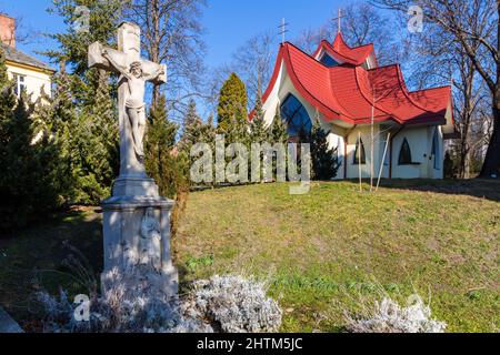
[[[26,90],[36,102],[42,92],[51,95],[51,78],[56,72],[48,64],[16,48],[16,20],[0,13],[1,48],[9,78],[16,82],[16,93]]]

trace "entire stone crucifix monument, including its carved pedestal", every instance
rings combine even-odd
[[[118,50],[96,42],[89,47],[89,67],[120,74],[120,176],[113,195],[102,202],[104,271],[102,290],[113,287],[116,273],[126,290],[138,295],[154,292],[174,296],[178,272],[170,253],[170,216],[174,202],[161,197],[144,169],[146,83],[164,83],[166,65],[140,57],[140,28],[122,23]],[[123,285],[121,285],[123,286]]]

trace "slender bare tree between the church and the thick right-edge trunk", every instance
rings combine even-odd
[[[479,42],[473,45],[480,53]],[[411,49],[412,73],[408,81],[411,85],[418,89],[453,85],[453,114],[459,138],[449,149],[458,160],[458,176],[467,179],[472,148],[480,144],[478,141],[483,142],[483,136],[472,128],[478,126],[477,120],[482,120],[479,109],[489,98],[489,90],[462,47],[440,27],[427,24],[424,32],[406,39],[406,47]]]

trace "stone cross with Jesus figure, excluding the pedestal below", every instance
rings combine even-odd
[[[118,29],[118,50],[96,42],[89,47],[89,67],[120,75],[118,110],[120,124],[120,178],[146,179],[146,83],[167,82],[167,67],[141,59],[141,31],[124,22]]]

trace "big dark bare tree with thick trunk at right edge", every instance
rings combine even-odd
[[[372,0],[407,13],[420,6],[426,20],[460,45],[486,82],[493,115],[493,129],[481,178],[498,176],[500,168],[500,1],[496,0]]]

